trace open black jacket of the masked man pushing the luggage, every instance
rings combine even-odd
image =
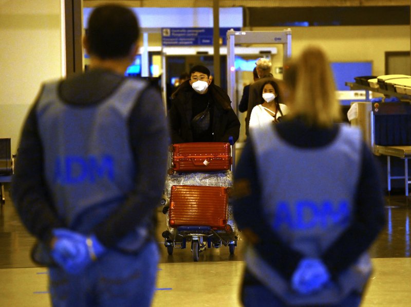
[[[237,141],[240,122],[231,108],[230,97],[223,89],[213,83],[208,89],[213,99],[213,141],[228,142],[232,136]],[[194,89],[189,80],[183,82],[172,95],[172,106],[169,112],[172,143],[195,142],[191,128],[193,117]]]

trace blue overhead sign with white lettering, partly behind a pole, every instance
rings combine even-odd
[[[220,45],[227,45],[227,31],[240,28],[220,28]],[[213,28],[161,28],[163,46],[212,46]]]

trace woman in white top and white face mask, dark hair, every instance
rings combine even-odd
[[[277,83],[267,80],[263,85],[264,102],[253,107],[250,116],[250,127],[261,127],[267,123],[278,122],[278,118],[288,113],[288,107],[278,102],[279,88]]]

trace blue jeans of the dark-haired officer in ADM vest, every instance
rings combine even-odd
[[[137,255],[109,250],[80,275],[51,267],[52,305],[148,307],[155,291],[158,260],[157,244],[150,241]]]

